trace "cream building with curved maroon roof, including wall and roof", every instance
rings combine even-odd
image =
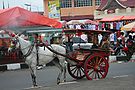
[[[135,0],[102,0],[94,11],[94,19],[112,16],[134,16]]]

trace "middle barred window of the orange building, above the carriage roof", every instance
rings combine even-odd
[[[92,6],[92,0],[74,0],[74,7]]]

